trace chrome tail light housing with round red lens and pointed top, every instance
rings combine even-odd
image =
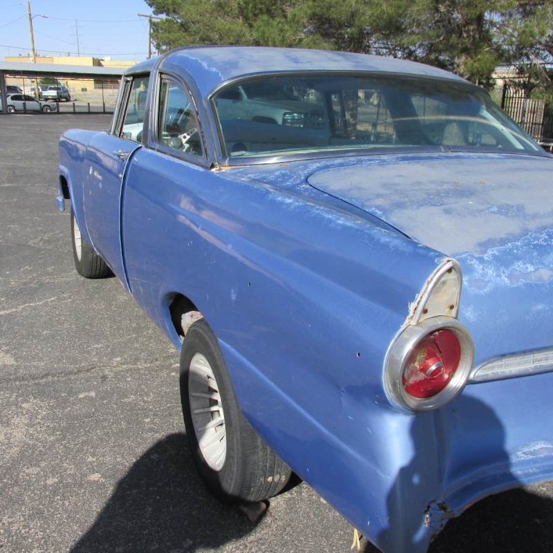
[[[460,268],[446,260],[411,306],[386,356],[384,380],[393,402],[412,411],[438,409],[465,387],[474,342],[460,323]]]

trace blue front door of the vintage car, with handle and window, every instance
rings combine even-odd
[[[122,186],[129,162],[141,147],[142,97],[148,82],[148,76],[124,81],[113,133],[93,136],[84,165],[83,206],[88,235],[95,250],[127,289],[120,232]]]

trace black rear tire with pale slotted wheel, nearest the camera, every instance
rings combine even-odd
[[[203,372],[205,363],[214,379],[208,378],[207,373]],[[194,379],[194,375],[198,374],[205,380]],[[191,394],[196,396],[192,395],[190,399]],[[208,395],[212,397],[208,398]],[[253,503],[270,498],[283,489],[290,478],[290,468],[245,420],[217,339],[205,319],[189,328],[182,344],[180,400],[196,468],[207,489],[216,498],[230,504]],[[194,415],[191,402],[195,407]],[[210,411],[200,413],[206,408]],[[219,423],[211,425],[213,427],[202,435],[201,417],[209,417],[211,421]],[[215,438],[215,449],[220,450],[221,442],[225,441],[222,460],[212,455],[212,446],[206,446],[205,440],[207,432],[210,433],[208,438],[212,438],[216,436],[217,429],[220,438]],[[202,447],[198,440],[202,440]]]

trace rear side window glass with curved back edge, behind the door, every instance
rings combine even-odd
[[[196,112],[188,94],[162,79],[158,109],[158,142],[173,150],[203,157]]]

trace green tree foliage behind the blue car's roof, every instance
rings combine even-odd
[[[191,44],[328,48],[446,68],[491,86],[517,64],[551,86],[551,0],[146,0],[159,51]]]

